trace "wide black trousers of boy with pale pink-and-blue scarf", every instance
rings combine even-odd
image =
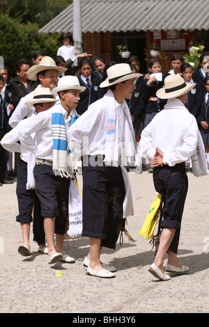
[[[125,186],[120,167],[83,166],[83,236],[101,239],[101,246],[116,248],[123,225]]]

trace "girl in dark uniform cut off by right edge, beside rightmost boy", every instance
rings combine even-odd
[[[199,122],[199,131],[203,138],[206,150],[206,158],[209,165],[209,76],[203,79],[204,92],[202,96],[201,111],[197,118]]]

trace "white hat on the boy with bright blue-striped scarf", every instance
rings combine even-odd
[[[85,86],[80,86],[79,79],[75,76],[67,75],[59,79],[56,88],[52,89],[54,95],[58,95],[60,91],[64,90],[80,90],[83,92],[86,90]]]

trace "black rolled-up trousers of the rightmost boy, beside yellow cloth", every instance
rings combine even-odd
[[[169,250],[178,252],[180,226],[188,190],[185,165],[162,166],[154,168],[153,181],[155,189],[162,194],[164,207],[160,228],[176,228]]]

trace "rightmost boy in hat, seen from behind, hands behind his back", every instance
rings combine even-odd
[[[187,92],[195,83],[185,83],[180,74],[164,80],[164,88],[157,97],[168,99],[164,109],[142,131],[139,142],[141,155],[154,166],[155,189],[162,194],[164,207],[160,228],[160,244],[150,273],[161,280],[171,277],[164,273],[164,257],[168,253],[167,271],[184,273],[189,267],[180,264],[177,257],[180,225],[183,216],[188,180],[185,163],[192,157],[192,173],[208,175],[203,142],[194,115],[185,107]],[[198,151],[197,151],[198,148]]]

